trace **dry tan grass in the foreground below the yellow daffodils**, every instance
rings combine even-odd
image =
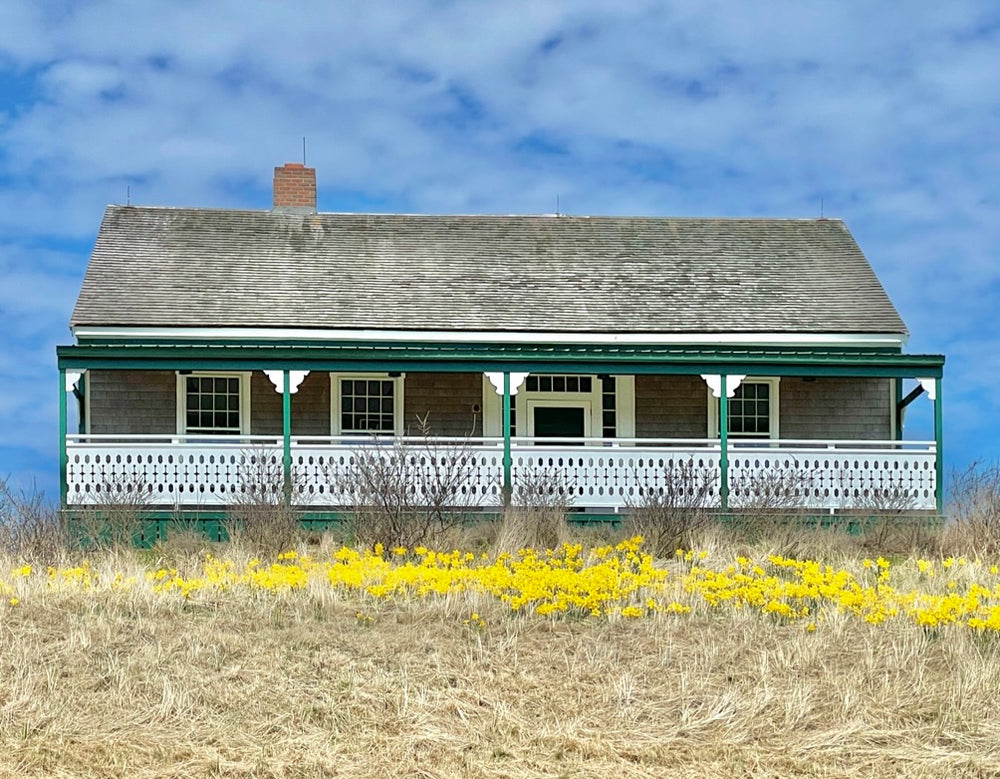
[[[848,618],[39,590],[0,606],[0,776],[995,776],[998,661]]]

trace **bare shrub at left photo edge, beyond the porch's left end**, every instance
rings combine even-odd
[[[42,492],[0,479],[0,550],[15,559],[51,561],[67,548],[65,519]]]

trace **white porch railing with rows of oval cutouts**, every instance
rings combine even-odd
[[[250,480],[280,483],[283,448],[275,436],[67,436],[70,505],[114,501],[136,488],[151,505],[224,506]],[[936,506],[933,441],[730,441],[732,508],[907,508]],[[414,501],[448,493],[466,507],[495,507],[503,485],[498,438],[358,439],[294,436],[294,500],[352,505],[352,481],[378,462],[412,485]],[[721,450],[706,439],[514,438],[515,492],[548,483],[580,508],[619,509],[650,493],[720,502]],[[388,477],[389,474],[386,473]],[[449,492],[450,491],[450,492]]]

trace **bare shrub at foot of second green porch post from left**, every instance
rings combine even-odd
[[[301,538],[299,516],[285,485],[281,455],[268,447],[254,447],[242,453],[237,473],[239,488],[227,511],[225,529],[231,541],[262,554],[291,549]]]

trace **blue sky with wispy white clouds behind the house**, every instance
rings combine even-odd
[[[843,218],[1000,436],[993,2],[0,4],[0,475],[57,484],[55,345],[107,203]],[[930,435],[930,403],[907,437]]]

